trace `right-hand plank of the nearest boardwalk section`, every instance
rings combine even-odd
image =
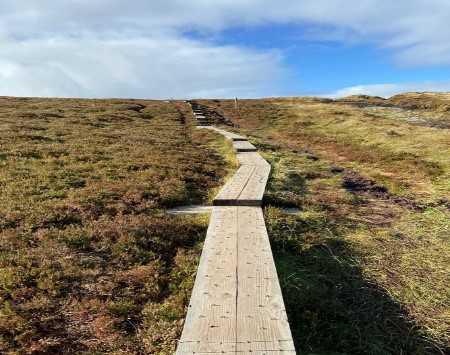
[[[238,344],[295,351],[261,208],[238,208],[237,254]]]

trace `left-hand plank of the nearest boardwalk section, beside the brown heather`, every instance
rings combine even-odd
[[[177,354],[220,353],[235,344],[236,244],[237,208],[214,207]]]

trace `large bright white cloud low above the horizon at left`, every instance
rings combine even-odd
[[[0,47],[0,95],[198,97],[269,95],[276,52],[174,36],[33,39]]]

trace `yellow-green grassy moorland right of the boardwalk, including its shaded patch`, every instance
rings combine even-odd
[[[266,223],[299,352],[448,353],[450,95],[200,102],[273,166]]]

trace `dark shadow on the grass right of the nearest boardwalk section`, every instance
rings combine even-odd
[[[294,254],[273,242],[297,351],[301,354],[443,354],[405,310],[362,275],[346,243]]]

